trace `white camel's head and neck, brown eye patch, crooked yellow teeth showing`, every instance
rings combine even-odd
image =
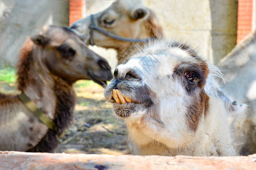
[[[126,121],[134,154],[236,154],[228,109],[209,83],[215,70],[188,45],[164,40],[138,49],[115,69],[105,97]]]

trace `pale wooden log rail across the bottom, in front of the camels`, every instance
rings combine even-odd
[[[0,169],[256,169],[249,156],[137,156],[0,151]]]

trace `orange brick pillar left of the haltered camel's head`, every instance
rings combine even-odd
[[[84,0],[70,0],[69,1],[69,25],[76,20],[84,18]]]

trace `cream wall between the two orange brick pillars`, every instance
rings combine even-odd
[[[86,1],[86,15],[95,14],[114,1]],[[237,0],[143,0],[156,12],[168,39],[189,42],[209,61],[218,63],[236,45]],[[114,52],[93,47],[112,58]],[[113,62],[113,59],[110,62]],[[113,65],[113,64],[112,64]]]

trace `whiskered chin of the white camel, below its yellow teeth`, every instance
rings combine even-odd
[[[142,104],[133,103],[133,102],[125,103],[125,104],[114,103],[113,108],[114,108],[115,114],[117,114],[117,116],[121,118],[129,117],[134,112],[138,112],[143,109]]]

